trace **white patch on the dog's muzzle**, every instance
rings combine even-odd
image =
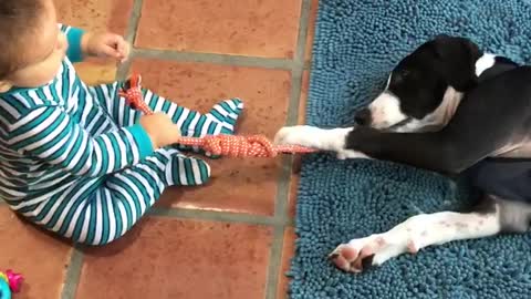
[[[379,94],[368,105],[368,110],[373,118],[372,126],[375,128],[385,128],[407,118],[407,115],[400,110],[398,97],[387,91]]]

